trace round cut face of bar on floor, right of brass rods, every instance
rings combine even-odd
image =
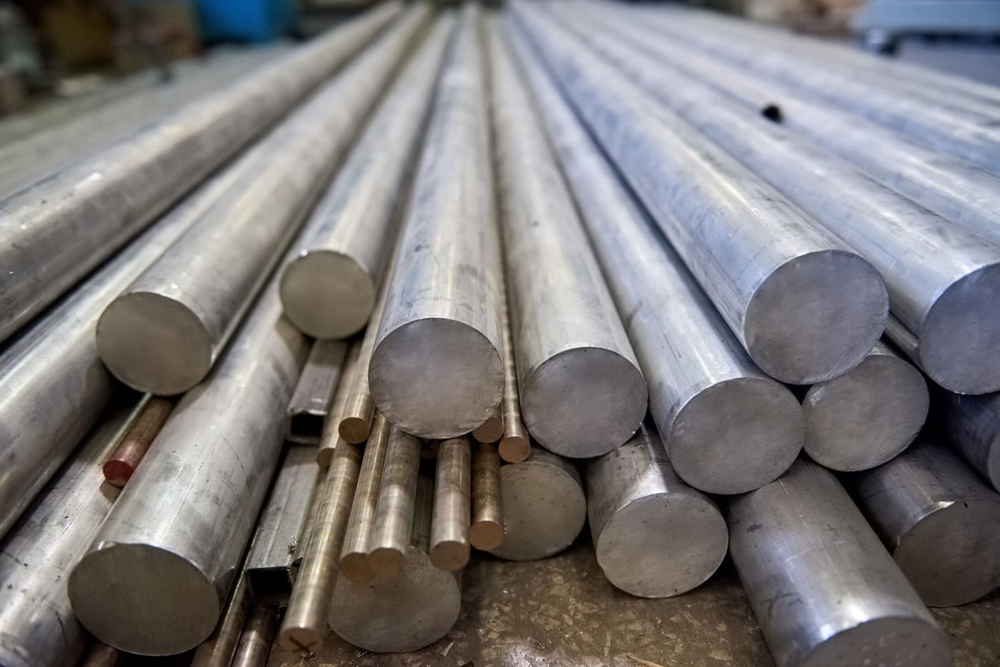
[[[597,537],[597,562],[626,593],[679,595],[718,569],[729,548],[722,514],[693,493],[647,495],[611,515]]]

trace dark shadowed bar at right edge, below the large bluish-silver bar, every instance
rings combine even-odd
[[[963,396],[940,392],[948,439],[1000,491],[1000,392]]]

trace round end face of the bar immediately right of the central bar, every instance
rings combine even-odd
[[[573,347],[525,378],[521,416],[532,436],[561,456],[606,454],[635,433],[646,414],[642,371],[603,347]]]

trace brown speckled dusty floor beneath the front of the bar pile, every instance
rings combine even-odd
[[[704,586],[645,600],[615,589],[584,535],[564,553],[527,563],[477,556],[463,579],[458,623],[407,654],[359,651],[331,633],[311,656],[278,646],[271,667],[756,667],[770,666],[760,629],[727,561]],[[1000,593],[934,615],[951,636],[956,667],[1000,665]],[[648,663],[646,663],[648,667]]]

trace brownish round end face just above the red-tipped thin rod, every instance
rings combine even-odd
[[[97,323],[97,353],[132,388],[174,395],[212,367],[212,336],[180,302],[149,292],[115,299]]]

